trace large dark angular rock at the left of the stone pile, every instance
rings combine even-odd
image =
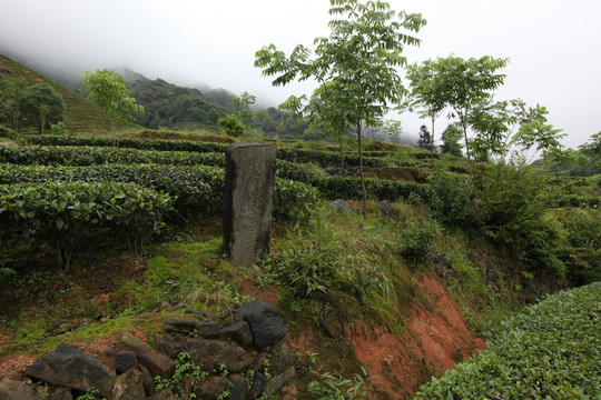
[[[24,372],[52,386],[83,392],[95,387],[105,397],[110,397],[115,381],[115,371],[67,343],[60,343],[55,351],[36,360]]]

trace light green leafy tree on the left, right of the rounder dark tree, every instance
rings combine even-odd
[[[136,112],[144,112],[144,107],[136,103],[131,97],[134,92],[126,88],[125,78],[115,71],[107,69],[86,71],[81,78],[81,92],[88,92],[87,99],[95,101],[107,110],[112,117],[111,128],[115,129],[115,120],[132,121]]]

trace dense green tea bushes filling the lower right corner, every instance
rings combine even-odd
[[[594,399],[601,393],[601,283],[553,294],[503,322],[487,350],[415,399]]]

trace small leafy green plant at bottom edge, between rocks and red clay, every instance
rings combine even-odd
[[[318,400],[358,400],[365,399],[373,390],[366,383],[375,377],[367,376],[362,368],[363,373],[355,373],[351,379],[334,377],[329,372],[319,373],[319,381],[312,381],[308,384],[309,393],[316,396]]]

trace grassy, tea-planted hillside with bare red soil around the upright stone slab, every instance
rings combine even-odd
[[[0,212],[0,382],[26,382],[27,367],[60,343],[110,363],[106,350],[127,352],[130,337],[162,346],[174,320],[226,331],[233,311],[258,300],[277,309],[283,346],[247,350],[244,367],[224,358],[225,367],[205,371],[207,382],[260,388],[284,358],[295,377],[282,399],[358,386],[378,399],[408,399],[483,350],[480,336],[499,320],[544,293],[593,282],[601,270],[592,178],[570,181],[565,192],[528,169],[446,156],[432,168],[423,150],[387,144],[365,153],[363,217],[358,179],[326,172],[339,163],[337,152],[275,142],[269,257],[240,268],[223,252],[225,144],[72,136],[27,142],[0,147],[0,209],[11,210]],[[562,206],[574,192],[587,201]],[[335,211],[339,198],[348,210]],[[78,206],[61,206],[69,201]],[[203,334],[176,338],[231,342]],[[196,366],[207,362],[196,357]]]

